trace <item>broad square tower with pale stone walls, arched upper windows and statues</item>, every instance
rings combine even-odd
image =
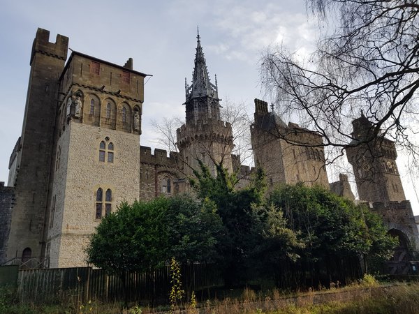
[[[72,52],[59,79],[50,204],[50,267],[84,266],[103,216],[140,199],[144,73]]]

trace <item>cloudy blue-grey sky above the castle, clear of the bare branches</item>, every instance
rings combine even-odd
[[[185,77],[191,82],[199,27],[212,82],[219,96],[246,107],[264,99],[260,57],[282,45],[304,57],[314,49],[319,28],[303,0],[172,1],[3,1],[0,10],[0,181],[8,179],[8,160],[22,132],[29,80],[29,58],[36,29],[70,38],[72,50],[153,75],[145,84],[141,144],[160,147],[152,121],[184,119]],[[68,56],[70,51],[68,52]],[[222,102],[221,102],[222,105]],[[418,197],[399,164],[406,198],[419,214]],[[330,173],[330,181],[337,174]]]

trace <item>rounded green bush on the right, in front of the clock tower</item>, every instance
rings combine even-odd
[[[289,227],[301,233],[306,244],[301,262],[319,278],[323,268],[344,283],[345,273],[358,272],[360,258],[385,262],[397,244],[376,214],[321,187],[283,186],[269,200],[284,210]]]

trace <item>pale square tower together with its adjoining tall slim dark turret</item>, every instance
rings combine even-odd
[[[15,185],[7,259],[84,266],[103,216],[140,199],[144,73],[80,52],[38,29],[22,136],[10,158]]]

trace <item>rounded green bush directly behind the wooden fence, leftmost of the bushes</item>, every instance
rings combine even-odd
[[[122,203],[96,227],[87,262],[121,274],[159,267],[171,257],[178,262],[212,260],[220,228],[214,206],[191,196]]]

